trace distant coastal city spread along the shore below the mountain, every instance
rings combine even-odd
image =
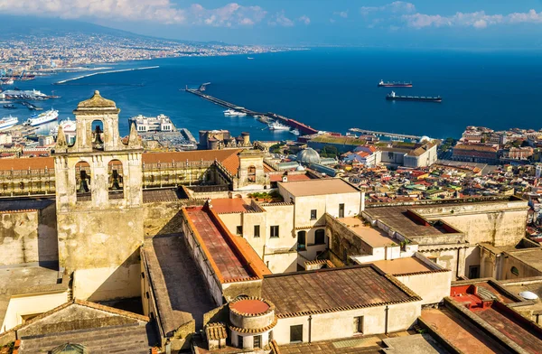
[[[106,33],[68,33],[54,37],[28,35],[0,41],[0,70],[12,70],[15,74],[21,74],[23,71],[28,73],[84,69],[89,65],[118,61],[285,50],[288,49],[225,43],[178,42]]]

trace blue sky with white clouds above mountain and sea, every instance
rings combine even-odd
[[[0,14],[191,41],[542,48],[542,0],[0,0]]]

